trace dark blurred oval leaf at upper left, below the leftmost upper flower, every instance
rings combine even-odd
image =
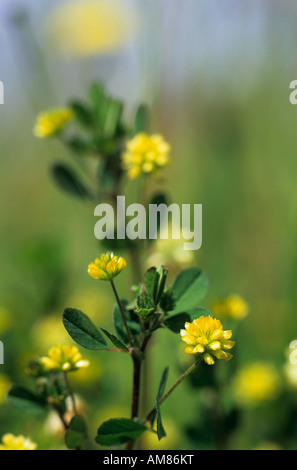
[[[68,194],[87,199],[90,197],[88,190],[79,181],[71,168],[65,164],[56,164],[52,168],[52,175],[56,184]]]

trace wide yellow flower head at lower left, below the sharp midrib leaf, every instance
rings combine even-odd
[[[47,356],[40,358],[40,362],[48,372],[73,372],[89,366],[89,361],[83,359],[78,348],[69,344],[51,348]]]

